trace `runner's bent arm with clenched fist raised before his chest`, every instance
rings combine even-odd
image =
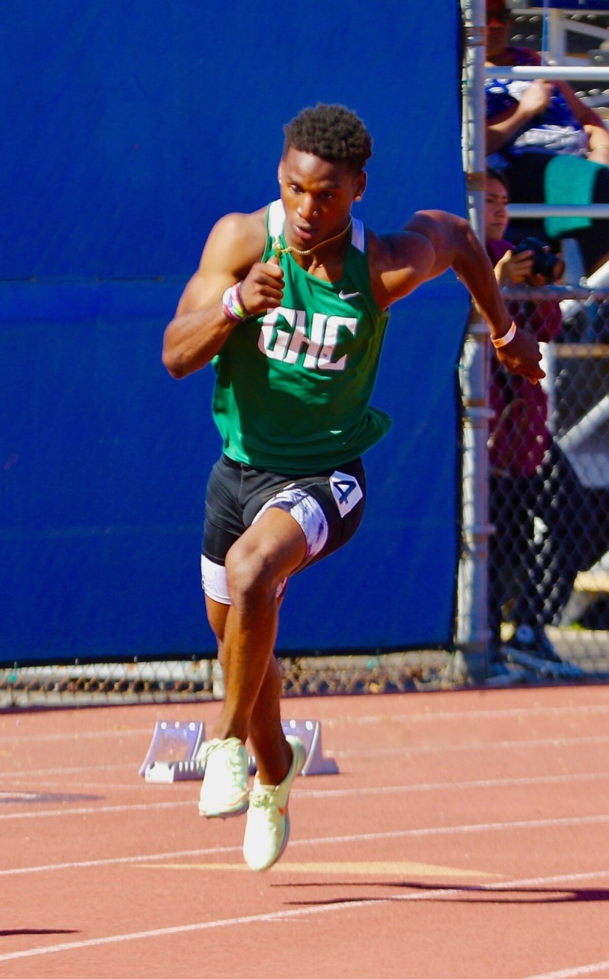
[[[205,367],[240,323],[223,311],[222,295],[242,282],[241,296],[252,315],[281,303],[278,263],[260,262],[265,243],[264,211],[226,214],[211,229],[199,269],[189,281],[175,316],[164,331],[163,362],[180,378]]]

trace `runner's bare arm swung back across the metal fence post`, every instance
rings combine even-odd
[[[372,288],[382,308],[452,268],[489,324],[492,339],[503,337],[511,326],[491,261],[471,225],[456,214],[417,211],[401,234],[376,240],[371,236],[370,259]],[[522,374],[533,384],[544,376],[539,346],[522,330],[496,354],[507,370]]]

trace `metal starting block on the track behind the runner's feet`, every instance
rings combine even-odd
[[[284,734],[299,737],[306,757],[302,775],[335,775],[339,767],[325,758],[321,745],[321,722],[282,721]],[[158,721],[150,748],[140,768],[148,782],[177,782],[202,779],[205,774],[205,724],[200,722]],[[199,761],[199,754],[202,760]],[[256,758],[249,757],[250,774],[257,770]]]

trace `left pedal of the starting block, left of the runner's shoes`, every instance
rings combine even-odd
[[[158,721],[140,775],[148,782],[203,778],[205,765],[197,761],[197,753],[204,741],[205,724],[200,721]]]

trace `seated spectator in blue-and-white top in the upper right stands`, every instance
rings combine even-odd
[[[508,43],[505,0],[487,0],[487,65],[539,65],[537,51]],[[487,153],[522,204],[609,203],[609,132],[563,81],[488,78]],[[609,257],[606,221],[550,217],[550,239],[574,237],[589,274]]]

